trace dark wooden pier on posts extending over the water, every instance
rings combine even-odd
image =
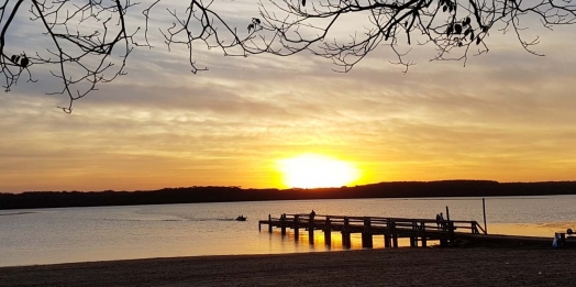
[[[429,241],[440,241],[441,246],[455,243],[463,234],[486,234],[476,221],[445,220],[440,224],[434,219],[380,218],[380,217],[343,217],[321,214],[281,214],[279,218],[268,216],[267,220],[258,221],[258,230],[268,225],[279,228],[285,235],[287,229],[292,229],[298,241],[300,230],[308,232],[311,244],[314,242],[314,230],[322,230],[326,245],[332,244],[332,232],[340,231],[342,244],[351,247],[351,234],[362,234],[362,246],[372,249],[375,235],[384,235],[385,247],[398,247],[398,239],[409,239],[410,246],[427,246]],[[419,244],[420,242],[420,244]]]

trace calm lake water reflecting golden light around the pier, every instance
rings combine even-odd
[[[346,199],[229,202],[133,207],[0,210],[0,266],[225,254],[269,254],[342,250],[334,234],[258,231],[272,213],[434,218],[450,207],[453,220],[481,223],[480,198]],[[576,227],[576,196],[487,198],[489,233],[551,236]],[[235,221],[240,214],[247,221]],[[552,242],[552,240],[551,240]],[[375,247],[384,242],[375,240]],[[361,249],[353,238],[352,249]]]

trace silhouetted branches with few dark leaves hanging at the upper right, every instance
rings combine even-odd
[[[485,42],[497,23],[512,30],[531,54],[539,37],[524,40],[522,19],[538,18],[544,27],[574,24],[576,4],[569,0],[269,0],[261,3],[265,29],[277,33],[281,47],[269,51],[287,56],[302,51],[330,58],[342,71],[381,44],[388,43],[406,70],[414,63],[405,59],[410,48],[402,45],[432,45],[432,60],[464,60],[468,53],[488,52]],[[364,20],[351,41],[336,40],[346,20]],[[336,27],[336,25],[340,26]],[[357,22],[356,22],[357,23]],[[356,24],[357,25],[357,24]],[[332,35],[334,38],[329,38]],[[416,40],[416,41],[414,41]],[[405,51],[405,52],[401,52]]]

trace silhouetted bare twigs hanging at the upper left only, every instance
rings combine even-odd
[[[159,12],[153,10],[163,0],[156,0],[142,10],[144,44],[135,41],[140,26],[129,32],[125,18],[130,10],[141,3],[131,0],[30,0],[30,9],[25,11],[23,2],[4,0],[0,7],[0,68],[5,78],[3,87],[9,91],[22,75],[26,75],[29,81],[34,81],[31,69],[41,65],[49,66],[49,75],[59,80],[62,89],[47,93],[67,95],[69,103],[60,108],[69,113],[75,100],[97,90],[99,84],[112,81],[125,74],[126,59],[134,47],[152,48],[148,22],[151,13]],[[261,48],[252,45],[254,48],[250,49],[246,45],[262,29],[259,20],[247,18],[251,31],[237,33],[236,27],[230,26],[218,12],[211,10],[211,5],[212,1],[204,3],[190,0],[184,14],[176,9],[168,10],[174,23],[167,29],[159,27],[168,48],[173,45],[187,46],[192,73],[207,69],[198,67],[193,59],[196,42],[203,43],[207,48],[219,47],[224,55],[232,56],[266,51],[266,46]],[[49,44],[42,45],[44,48],[27,47],[30,51],[14,53],[18,44],[10,41],[7,32],[16,30],[16,15],[20,15],[20,20],[29,16],[29,21],[40,23]]]

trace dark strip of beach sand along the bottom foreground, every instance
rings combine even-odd
[[[386,249],[0,268],[0,286],[576,286],[576,250]]]

